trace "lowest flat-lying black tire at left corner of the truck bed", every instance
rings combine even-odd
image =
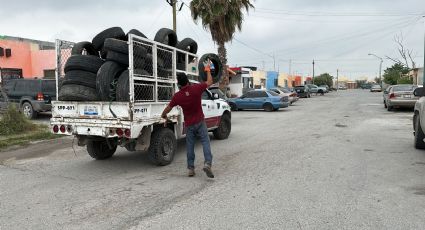
[[[98,101],[96,89],[84,85],[63,85],[59,90],[59,101]]]

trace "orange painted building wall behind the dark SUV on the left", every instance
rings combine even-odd
[[[24,78],[43,77],[43,70],[55,69],[54,50],[39,50],[36,44],[6,39],[0,39],[0,47],[12,50],[12,56],[0,57],[0,68],[22,69]]]

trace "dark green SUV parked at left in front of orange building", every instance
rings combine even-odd
[[[7,94],[8,102],[16,104],[29,119],[37,117],[39,112],[51,111],[51,102],[56,98],[55,80],[9,80],[3,90]]]

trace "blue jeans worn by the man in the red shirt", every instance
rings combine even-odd
[[[186,127],[186,149],[187,149],[187,168],[195,168],[195,140],[199,137],[204,150],[204,163],[211,165],[212,154],[210,148],[210,137],[208,135],[205,121]]]

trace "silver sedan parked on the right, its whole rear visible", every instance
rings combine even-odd
[[[394,108],[413,108],[419,97],[413,95],[415,85],[392,85],[384,91],[384,107],[388,111]]]

